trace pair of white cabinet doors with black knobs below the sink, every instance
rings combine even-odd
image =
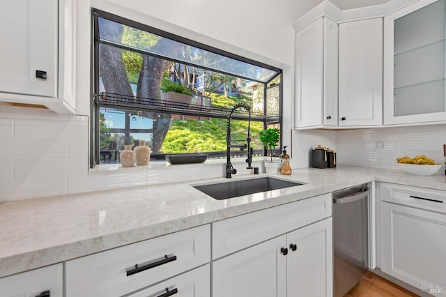
[[[213,297],[332,296],[332,218],[213,262]]]

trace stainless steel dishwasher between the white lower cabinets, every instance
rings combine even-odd
[[[360,281],[369,264],[367,184],[333,192],[334,297]]]

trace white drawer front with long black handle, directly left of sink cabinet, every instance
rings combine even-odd
[[[66,296],[122,296],[210,261],[210,226],[66,262]]]

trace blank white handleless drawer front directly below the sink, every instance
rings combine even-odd
[[[213,259],[332,215],[331,193],[213,223]]]

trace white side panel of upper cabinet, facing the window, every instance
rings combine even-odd
[[[295,33],[295,127],[322,125],[323,18]]]

